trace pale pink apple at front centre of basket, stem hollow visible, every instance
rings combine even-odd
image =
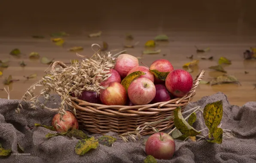
[[[137,78],[128,87],[128,97],[134,105],[148,104],[155,98],[155,85],[148,78]]]

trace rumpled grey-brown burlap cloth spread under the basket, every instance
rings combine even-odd
[[[224,138],[222,144],[176,140],[174,158],[157,160],[158,163],[256,163],[256,102],[248,102],[242,107],[232,106],[226,95],[217,93],[189,104],[186,109],[198,105],[204,108],[207,103],[217,100],[223,100],[221,127],[232,130],[235,137]],[[54,131],[43,127],[28,129],[35,123],[50,125],[54,112],[27,109],[28,105],[23,103],[21,114],[17,115],[18,102],[0,99],[0,143],[4,148],[11,148],[13,153],[8,158],[0,158],[0,163],[143,163],[146,158],[144,139],[147,136],[139,142],[125,143],[119,139],[113,147],[99,145],[97,149],[79,156],[74,150],[77,139],[64,136],[46,139],[45,135]],[[205,128],[202,113],[197,112],[197,116],[193,126],[201,130]],[[116,133],[108,135],[116,136]],[[24,148],[23,155],[17,155],[17,143]]]

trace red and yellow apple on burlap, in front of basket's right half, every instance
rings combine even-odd
[[[175,152],[174,139],[167,133],[154,133],[147,139],[145,151],[157,159],[169,160]]]

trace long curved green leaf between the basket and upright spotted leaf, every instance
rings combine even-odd
[[[190,126],[189,123],[183,118],[180,107],[174,110],[174,125],[186,136],[196,136],[201,133],[198,130],[195,130],[194,127]]]

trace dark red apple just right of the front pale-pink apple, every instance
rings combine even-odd
[[[171,100],[170,93],[168,92],[165,85],[155,85],[155,91],[155,98],[151,101],[151,103],[165,102]]]

